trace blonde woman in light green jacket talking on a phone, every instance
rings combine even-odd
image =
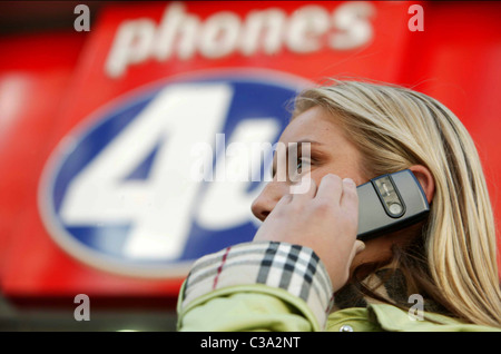
[[[254,242],[197,260],[180,331],[501,327],[485,180],[446,107],[406,88],[334,81],[296,98],[279,141],[310,142],[297,166],[310,188],[291,194],[293,181],[275,177],[252,206],[263,220]],[[420,181],[428,218],[356,240],[356,185],[403,169]]]

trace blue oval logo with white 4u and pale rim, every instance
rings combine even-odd
[[[269,72],[204,75],[108,105],[46,166],[39,205],[49,234],[87,264],[148,277],[184,276],[194,259],[250,240],[250,203],[271,164],[255,148],[278,139],[304,85]]]

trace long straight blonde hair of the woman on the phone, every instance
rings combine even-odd
[[[438,100],[394,85],[333,80],[303,91],[293,118],[314,106],[341,119],[366,176],[429,168],[435,194],[423,227],[426,272],[454,316],[500,326],[494,217],[477,148],[461,121]]]

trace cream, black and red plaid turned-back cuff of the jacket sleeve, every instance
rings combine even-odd
[[[331,279],[311,248],[256,242],[198,259],[185,282],[181,306],[217,289],[253,284],[281,288],[302,298],[321,324],[326,322],[333,305]]]

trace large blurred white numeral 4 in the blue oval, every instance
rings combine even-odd
[[[130,223],[127,256],[178,257],[189,227],[184,216],[199,188],[188,175],[189,151],[200,141],[209,142],[222,128],[232,97],[227,85],[166,87],[72,180],[61,218],[67,225]],[[156,146],[148,179],[124,180]]]

